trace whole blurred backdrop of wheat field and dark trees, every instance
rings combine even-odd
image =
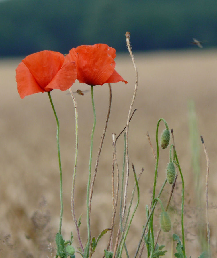
[[[210,158],[209,207],[212,257],[217,254],[216,234],[216,110],[217,51],[216,1],[0,1],[1,85],[1,178],[0,257],[54,257],[54,238],[59,224],[59,172],[56,122],[46,93],[20,99],[15,69],[22,58],[41,50],[68,53],[80,44],[106,43],[116,48],[116,71],[128,84],[112,85],[112,109],[99,162],[91,212],[92,236],[110,227],[112,216],[112,133],[126,125],[134,85],[134,68],[126,50],[125,32],[138,67],[137,109],[129,131],[129,156],[139,181],[140,204],[126,244],[133,257],[146,222],[145,205],[150,204],[155,160],[146,138],[148,131],[156,150],[155,130],[163,117],[173,128],[176,150],[185,179],[185,234],[187,255],[198,257],[206,248],[205,179],[206,158],[200,135]],[[191,44],[202,41],[203,48]],[[88,90],[76,82],[73,91]],[[64,214],[62,234],[74,234],[71,216],[71,184],[75,153],[75,114],[66,92],[52,91],[60,120],[60,151],[63,171]],[[81,219],[83,244],[87,239],[86,186],[89,144],[93,123],[91,96],[75,95],[79,112],[79,159],[75,187],[75,212]],[[108,106],[107,85],[94,87],[97,125],[93,146],[93,169]],[[163,130],[160,124],[160,133]],[[194,128],[194,129],[192,129]],[[192,139],[195,140],[193,141]],[[117,143],[122,167],[123,137]],[[169,150],[160,150],[157,191],[165,179]],[[194,165],[193,165],[194,164]],[[197,181],[198,180],[198,181]],[[173,228],[161,232],[159,244],[175,253],[173,233],[181,237],[181,179],[169,210]],[[134,179],[130,168],[128,200]],[[198,192],[199,189],[199,192]],[[170,186],[162,200],[166,205]],[[135,200],[136,201],[136,200]],[[135,205],[135,202],[134,202]],[[160,214],[160,210],[157,211]],[[116,228],[118,220],[116,220]],[[155,216],[155,230],[159,217]],[[97,246],[102,257],[108,234]],[[202,248],[201,248],[202,247]],[[79,254],[76,254],[76,257]],[[124,255],[123,255],[124,257]],[[144,251],[146,257],[146,251]]]

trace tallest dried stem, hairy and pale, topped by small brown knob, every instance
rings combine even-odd
[[[135,73],[136,73],[136,83],[135,83],[135,89],[134,89],[132,102],[130,104],[130,110],[128,113],[127,124],[126,124],[126,181],[125,181],[125,189],[124,189],[124,205],[123,205],[123,212],[122,212],[122,220],[124,218],[124,214],[125,214],[125,210],[126,210],[127,186],[128,186],[128,180],[129,180],[129,136],[128,136],[129,135],[129,122],[130,122],[130,115],[132,112],[132,107],[133,107],[133,103],[134,103],[134,100],[136,97],[136,91],[137,91],[137,85],[138,85],[138,71],[137,71],[134,57],[133,57],[131,47],[130,47],[130,32],[126,32],[125,36],[126,36],[126,43],[127,43],[128,51],[130,53],[130,56],[131,56],[131,59],[133,62],[133,66],[135,69]]]

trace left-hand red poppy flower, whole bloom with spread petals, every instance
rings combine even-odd
[[[48,50],[24,58],[16,69],[20,97],[53,89],[69,89],[77,78],[76,64],[64,61],[63,54]]]

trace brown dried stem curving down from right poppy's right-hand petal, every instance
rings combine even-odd
[[[108,107],[108,112],[107,112],[107,116],[106,116],[105,127],[104,127],[103,134],[102,134],[102,137],[101,137],[101,142],[99,144],[99,151],[98,151],[98,154],[97,154],[95,171],[94,171],[94,174],[93,174],[93,179],[92,179],[91,188],[90,188],[89,219],[90,219],[90,213],[91,213],[91,200],[92,200],[92,196],[93,196],[93,185],[94,185],[95,178],[96,178],[97,168],[98,168],[98,164],[99,164],[99,156],[100,156],[100,153],[101,153],[101,150],[102,150],[102,145],[103,145],[103,141],[104,141],[104,138],[105,138],[105,132],[106,132],[106,129],[107,129],[110,110],[111,110],[111,105],[112,105],[112,87],[111,87],[110,83],[108,83],[108,86],[109,86],[109,107]]]

